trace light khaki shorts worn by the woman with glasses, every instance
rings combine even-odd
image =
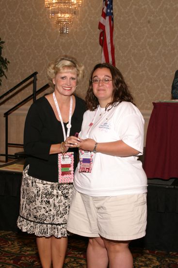
[[[74,189],[67,230],[117,241],[146,234],[146,193],[92,197]]]

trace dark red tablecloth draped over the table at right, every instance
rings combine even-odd
[[[153,102],[146,134],[148,178],[178,178],[178,103]]]

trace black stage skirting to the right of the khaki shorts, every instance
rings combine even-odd
[[[163,182],[166,181],[160,180],[160,183]],[[171,185],[148,182],[146,236],[132,241],[130,245],[149,250],[178,252],[177,179]]]

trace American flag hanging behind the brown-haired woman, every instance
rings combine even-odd
[[[102,47],[101,63],[108,62],[115,66],[113,42],[113,0],[103,0],[103,8],[98,28],[99,44]]]

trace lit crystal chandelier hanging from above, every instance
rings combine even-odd
[[[83,6],[83,0],[45,0],[49,8],[49,18],[59,28],[60,34],[68,34],[78,9]]]

